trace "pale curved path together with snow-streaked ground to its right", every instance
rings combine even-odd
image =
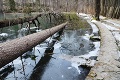
[[[101,35],[100,53],[86,80],[119,80],[120,21],[102,16],[101,21],[95,21],[90,15],[79,15],[96,24]]]

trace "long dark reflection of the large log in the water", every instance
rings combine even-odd
[[[54,51],[54,44],[56,43],[56,41],[58,40],[62,32],[63,30],[59,31],[57,34],[55,34],[52,37],[52,41],[48,43],[48,47],[45,50],[44,56],[41,57],[40,61],[34,67],[29,80],[40,80],[41,79],[42,74],[44,73],[44,70],[46,68],[46,65],[49,63],[50,59],[52,58],[52,54]]]

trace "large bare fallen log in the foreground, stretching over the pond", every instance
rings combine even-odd
[[[18,58],[31,48],[43,42],[49,36],[52,36],[57,31],[60,31],[67,25],[60,24],[56,27],[43,30],[22,38],[14,39],[4,43],[0,43],[0,68]]]

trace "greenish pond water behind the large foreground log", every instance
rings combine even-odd
[[[34,14],[33,16],[35,15],[37,14]],[[0,42],[5,42],[7,40],[23,37],[28,34],[39,32],[43,29],[47,29],[55,25],[58,25],[60,23],[63,23],[63,22],[59,22],[59,20],[56,20],[56,17],[54,17],[53,15],[51,16],[48,16],[48,15],[47,16],[43,15],[39,17],[38,20],[33,21],[32,24],[31,23],[29,24],[28,22],[26,22],[23,24],[0,28]],[[26,15],[26,17],[27,16],[29,15]],[[14,14],[6,14],[6,17],[7,19],[16,18],[14,17]],[[24,17],[24,14],[18,14],[18,17]],[[50,17],[51,19],[49,19]],[[4,18],[0,17],[0,19],[4,19]],[[3,33],[7,34],[8,36],[6,37],[6,35],[3,35]]]

